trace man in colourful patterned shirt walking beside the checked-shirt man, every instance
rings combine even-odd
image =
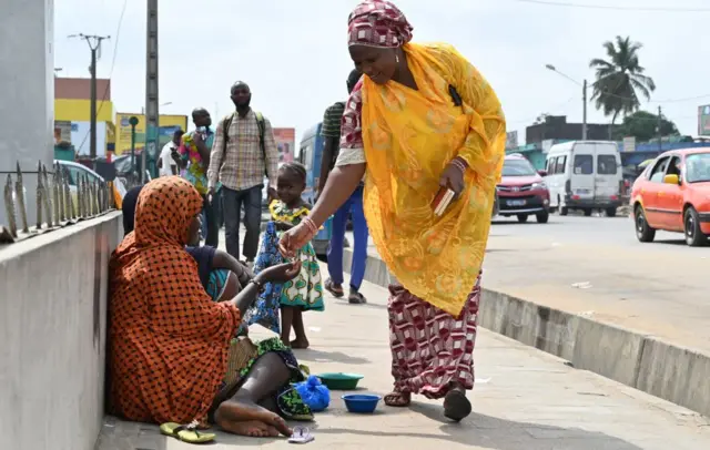
[[[202,213],[206,225],[205,245],[217,248],[220,244],[220,228],[217,227],[217,203],[207,198],[207,167],[210,167],[210,149],[214,141],[212,117],[207,110],[197,108],[192,112],[195,130],[182,136],[180,157],[187,164],[184,177],[197,190],[203,197]],[[219,188],[219,186],[216,186]],[[215,190],[213,190],[214,192]]]

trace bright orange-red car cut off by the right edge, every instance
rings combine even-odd
[[[659,155],[633,183],[636,237],[652,242],[657,229],[683,233],[690,246],[710,235],[710,149]]]

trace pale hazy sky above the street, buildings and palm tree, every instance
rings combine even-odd
[[[399,0],[415,42],[454,44],[496,89],[508,131],[541,113],[581,122],[581,89],[545,68],[552,64],[581,83],[594,81],[589,61],[605,58],[616,35],[641,42],[640,64],[657,90],[642,109],[697,134],[697,110],[710,104],[710,47],[702,38],[708,0]],[[358,0],[159,1],[159,76],[163,114],[197,106],[214,116],[232,111],[230,86],[252,89],[252,106],[273,126],[295,127],[296,139],[343,101],[353,69],[347,16]],[[597,8],[584,8],[582,6]],[[87,43],[69,34],[110,34],[98,75],[111,78],[116,112],[140,112],[145,89],[145,1],[54,0],[54,67],[61,76],[89,76]],[[607,8],[609,7],[609,8]],[[620,9],[611,9],[620,8]],[[655,11],[633,10],[639,8]],[[707,9],[683,12],[678,9]],[[119,28],[120,25],[120,28]],[[610,117],[588,104],[590,123]]]

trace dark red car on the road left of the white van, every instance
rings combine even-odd
[[[536,171],[524,156],[507,155],[494,211],[504,217],[516,216],[521,223],[535,215],[538,223],[546,224],[550,216],[550,193],[542,176],[545,172]]]

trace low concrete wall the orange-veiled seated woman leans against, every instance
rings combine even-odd
[[[0,246],[0,448],[92,450],[121,214]]]

